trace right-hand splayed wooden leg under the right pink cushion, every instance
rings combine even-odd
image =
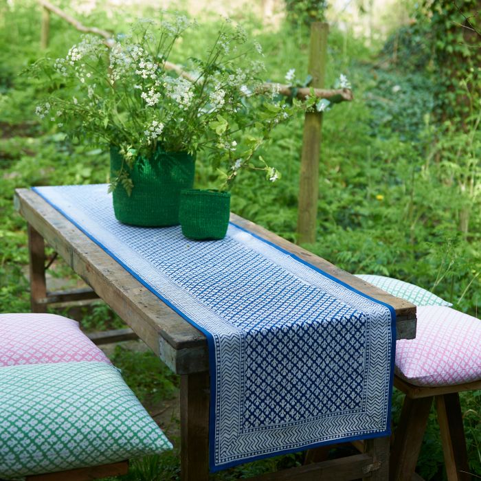
[[[447,479],[449,481],[468,481],[471,476],[469,475],[459,394],[457,392],[444,394],[436,396],[435,399]]]

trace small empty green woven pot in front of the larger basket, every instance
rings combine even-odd
[[[182,234],[190,239],[223,239],[230,215],[230,192],[183,190],[179,221]]]

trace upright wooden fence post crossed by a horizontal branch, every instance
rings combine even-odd
[[[327,23],[311,24],[309,74],[313,77],[311,86],[314,88],[324,88],[328,30]],[[306,112],[299,182],[298,244],[315,242],[321,129],[322,113]]]

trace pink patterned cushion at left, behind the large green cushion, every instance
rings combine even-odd
[[[78,322],[53,314],[0,314],[0,367],[109,359]]]

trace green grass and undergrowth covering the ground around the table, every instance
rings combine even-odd
[[[34,108],[49,86],[19,73],[43,55],[38,50],[39,12],[32,1],[16,2],[14,10],[0,3],[0,305],[3,312],[30,310],[25,279],[25,223],[14,213],[14,188],[62,183],[105,182],[109,159],[98,146],[76,146],[61,131],[38,124]],[[264,47],[267,78],[282,80],[287,69],[306,72],[307,36],[302,30],[262,28],[245,16]],[[98,11],[83,19],[90,25],[122,32],[124,19]],[[8,28],[7,28],[8,25]],[[208,36],[204,25],[175,52],[181,62],[198,52]],[[49,56],[63,56],[79,34],[52,16]],[[398,52],[402,56],[402,52]],[[436,153],[436,125],[429,72],[421,67],[392,66],[363,45],[351,32],[331,29],[326,85],[340,73],[353,83],[355,102],[339,104],[324,115],[320,159],[317,241],[306,245],[352,273],[379,273],[414,282],[454,302],[456,309],[478,315],[481,301],[480,197],[466,197],[456,171],[445,176]],[[409,58],[405,57],[405,63]],[[398,88],[399,87],[399,88]],[[479,132],[473,132],[479,139]],[[281,126],[262,156],[282,172],[275,184],[249,173],[232,192],[232,210],[289,240],[295,240],[302,118]],[[481,157],[478,151],[478,158]],[[476,167],[476,166],[475,166]],[[479,164],[476,168],[479,168]],[[462,169],[459,166],[458,170]],[[478,172],[478,171],[476,171]],[[477,177],[476,177],[477,178]],[[197,186],[212,186],[214,176],[201,157]],[[459,229],[459,214],[469,205],[469,232]],[[77,282],[62,262],[52,278]],[[96,330],[122,326],[105,304],[85,309],[82,326]],[[146,405],[176,395],[178,379],[150,353],[118,348],[113,361],[128,385]],[[402,396],[393,400],[394,421]],[[470,469],[481,472],[481,393],[461,395]],[[174,423],[175,424],[175,423]],[[175,429],[174,429],[175,430]],[[174,440],[175,441],[175,440]],[[271,458],[219,473],[216,480],[234,480],[294,466],[302,456]],[[443,480],[443,457],[434,412],[418,463],[426,479]],[[135,462],[128,480],[179,478],[178,451]]]

